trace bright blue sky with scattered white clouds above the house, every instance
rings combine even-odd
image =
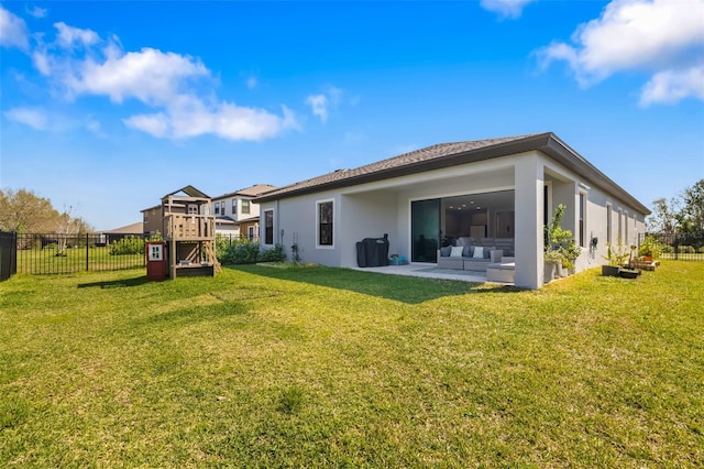
[[[646,205],[704,177],[704,0],[0,2],[0,187],[97,229],[552,131]]]

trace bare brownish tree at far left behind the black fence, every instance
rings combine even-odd
[[[25,189],[0,190],[0,229],[18,232],[52,232],[58,211],[47,198]]]

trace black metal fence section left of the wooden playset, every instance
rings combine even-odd
[[[16,234],[16,272],[67,274],[146,268],[143,233]]]

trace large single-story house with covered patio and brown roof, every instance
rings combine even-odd
[[[582,247],[576,271],[602,264],[607,241],[636,244],[650,214],[553,133],[441,143],[255,201],[264,249],[282,244],[290,257],[296,243],[323,265],[356,266],[356,242],[384,233],[391,253],[430,264],[444,238],[509,238],[515,283],[528,288],[543,283],[543,225],[559,204]]]

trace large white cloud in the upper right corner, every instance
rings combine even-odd
[[[652,74],[641,102],[675,102],[701,96],[691,78],[704,66],[702,19],[704,0],[614,0],[578,28],[572,45],[554,42],[539,54],[543,66],[566,62],[582,86],[619,72]]]

